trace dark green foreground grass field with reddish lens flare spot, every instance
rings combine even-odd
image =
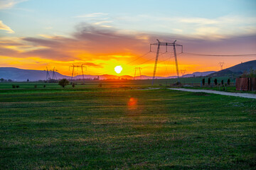
[[[166,89],[0,95],[0,169],[256,166],[253,99]]]

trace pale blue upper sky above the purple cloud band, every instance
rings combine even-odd
[[[68,35],[81,22],[124,31],[214,36],[244,35],[255,32],[256,26],[253,0],[4,0],[0,6],[1,21],[20,36]]]

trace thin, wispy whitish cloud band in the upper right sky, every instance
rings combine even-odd
[[[220,16],[216,18],[190,17],[190,16],[162,16],[157,14],[137,15],[137,16],[118,16],[112,18],[113,23],[119,23],[119,28],[129,30],[139,30],[146,33],[174,34],[181,33],[185,36],[196,38],[207,38],[198,34],[198,30],[203,30],[210,37],[225,38],[233,35],[250,35],[256,33],[256,17],[250,16]],[[154,23],[154,24],[150,24]],[[145,27],[146,26],[146,27]],[[212,28],[215,28],[213,31]],[[180,31],[182,30],[182,31]],[[211,38],[210,38],[211,39]]]

